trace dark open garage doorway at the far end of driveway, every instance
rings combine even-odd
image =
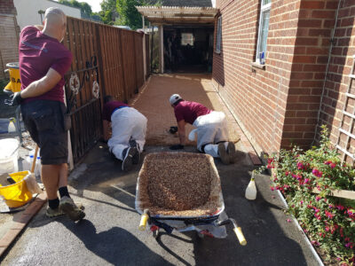
[[[164,72],[212,72],[213,31],[210,26],[164,27]]]

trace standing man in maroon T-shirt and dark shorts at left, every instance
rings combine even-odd
[[[67,17],[57,7],[45,11],[43,26],[22,29],[19,43],[21,91],[13,95],[10,105],[21,105],[25,126],[41,148],[42,181],[49,205],[46,215],[67,214],[78,221],[85,214],[67,191],[63,85],[72,54],[61,44],[66,29]]]

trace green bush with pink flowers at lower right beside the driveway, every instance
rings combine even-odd
[[[277,169],[271,189],[284,195],[289,214],[296,217],[324,263],[355,265],[355,200],[334,196],[352,195],[355,168],[341,163],[327,135],[323,127],[319,147],[306,152],[296,146],[282,150],[268,158],[266,168]]]

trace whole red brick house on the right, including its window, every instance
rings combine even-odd
[[[256,152],[309,147],[326,124],[333,144],[348,131],[340,146],[354,153],[355,100],[345,94],[355,1],[217,0],[217,8],[213,84]]]

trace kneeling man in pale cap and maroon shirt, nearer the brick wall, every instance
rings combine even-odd
[[[170,105],[174,108],[177,118],[177,133],[179,145],[172,145],[171,150],[183,149],[185,145],[185,123],[190,123],[193,129],[189,135],[194,140],[197,131],[197,149],[201,153],[208,153],[219,157],[224,164],[233,162],[235,146],[228,141],[227,121],[225,113],[209,110],[196,102],[185,101],[178,94],[170,97]]]

